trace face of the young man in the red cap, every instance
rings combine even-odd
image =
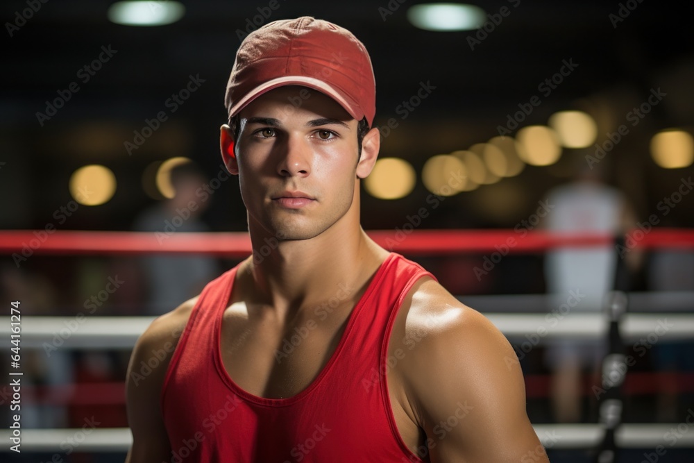
[[[239,128],[239,185],[251,230],[310,239],[352,207],[357,121],[329,96],[296,86],[271,90],[239,113]]]

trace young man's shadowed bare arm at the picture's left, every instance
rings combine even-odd
[[[194,303],[195,299],[191,299],[173,312],[155,319],[135,344],[126,378],[128,424],[133,433],[133,446],[126,463],[162,463],[171,460],[160,396],[171,355]],[[152,365],[155,367],[152,368]]]

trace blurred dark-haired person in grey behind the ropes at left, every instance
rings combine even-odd
[[[207,181],[193,162],[172,168],[174,197],[139,214],[135,230],[159,232],[159,240],[168,239],[175,232],[209,231],[200,220],[209,202],[203,201],[196,193]],[[190,207],[191,203],[196,207]],[[171,307],[199,294],[205,284],[220,273],[214,259],[201,255],[152,254],[142,258],[142,267],[149,287],[144,313],[151,315],[168,312]]]

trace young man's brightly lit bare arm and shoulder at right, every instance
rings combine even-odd
[[[504,335],[434,281],[421,285],[412,307],[406,330],[426,335],[408,355],[405,383],[430,461],[548,462],[527,418],[518,357]]]

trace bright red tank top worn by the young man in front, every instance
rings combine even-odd
[[[431,273],[391,253],[315,380],[295,396],[262,398],[236,385],[221,360],[236,271],[203,289],[171,358],[161,402],[171,462],[421,462],[396,428],[384,373],[398,308]]]

